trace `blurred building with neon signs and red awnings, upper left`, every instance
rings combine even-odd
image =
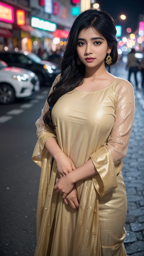
[[[0,2],[0,51],[64,48],[76,16],[71,0],[5,0]]]

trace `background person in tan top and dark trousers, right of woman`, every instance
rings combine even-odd
[[[129,69],[129,74],[128,74],[129,82],[130,82],[131,73],[134,73],[136,90],[137,90],[138,89],[138,80],[137,80],[138,67],[137,67],[137,58],[135,57],[135,53],[136,53],[135,49],[131,49],[131,52],[128,55],[128,62],[127,62],[126,69]]]

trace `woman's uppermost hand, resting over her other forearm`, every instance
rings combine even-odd
[[[60,177],[63,177],[76,169],[73,161],[68,156],[66,156],[64,152],[57,154],[55,160]]]

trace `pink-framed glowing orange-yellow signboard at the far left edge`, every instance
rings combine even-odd
[[[0,20],[7,23],[14,22],[14,9],[12,6],[0,2]]]

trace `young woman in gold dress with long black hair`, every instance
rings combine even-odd
[[[106,71],[118,57],[115,22],[82,12],[59,74],[36,121],[33,161],[41,168],[35,256],[126,256],[127,155],[135,98]],[[108,57],[108,58],[107,58]]]

